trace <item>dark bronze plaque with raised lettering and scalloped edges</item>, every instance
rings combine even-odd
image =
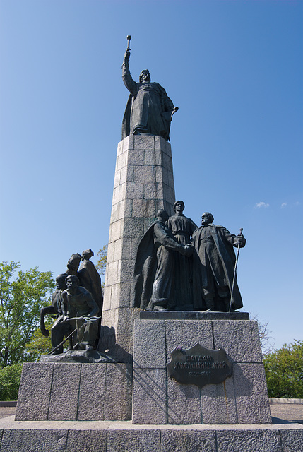
[[[208,350],[199,343],[183,350],[175,348],[172,359],[166,364],[168,375],[182,384],[196,384],[202,388],[206,384],[218,384],[232,376],[232,362],[225,350]]]

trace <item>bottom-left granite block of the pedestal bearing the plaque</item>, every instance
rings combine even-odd
[[[165,369],[133,368],[133,424],[166,424]]]

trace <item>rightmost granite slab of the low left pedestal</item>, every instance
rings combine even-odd
[[[106,364],[104,419],[131,419],[131,364]]]

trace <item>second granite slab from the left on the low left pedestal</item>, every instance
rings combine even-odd
[[[54,364],[49,420],[76,420],[81,364]]]

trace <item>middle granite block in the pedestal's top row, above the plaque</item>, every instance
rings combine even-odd
[[[167,362],[170,352],[176,347],[187,349],[200,343],[203,347],[213,349],[213,330],[211,321],[199,320],[165,320],[167,343]]]

